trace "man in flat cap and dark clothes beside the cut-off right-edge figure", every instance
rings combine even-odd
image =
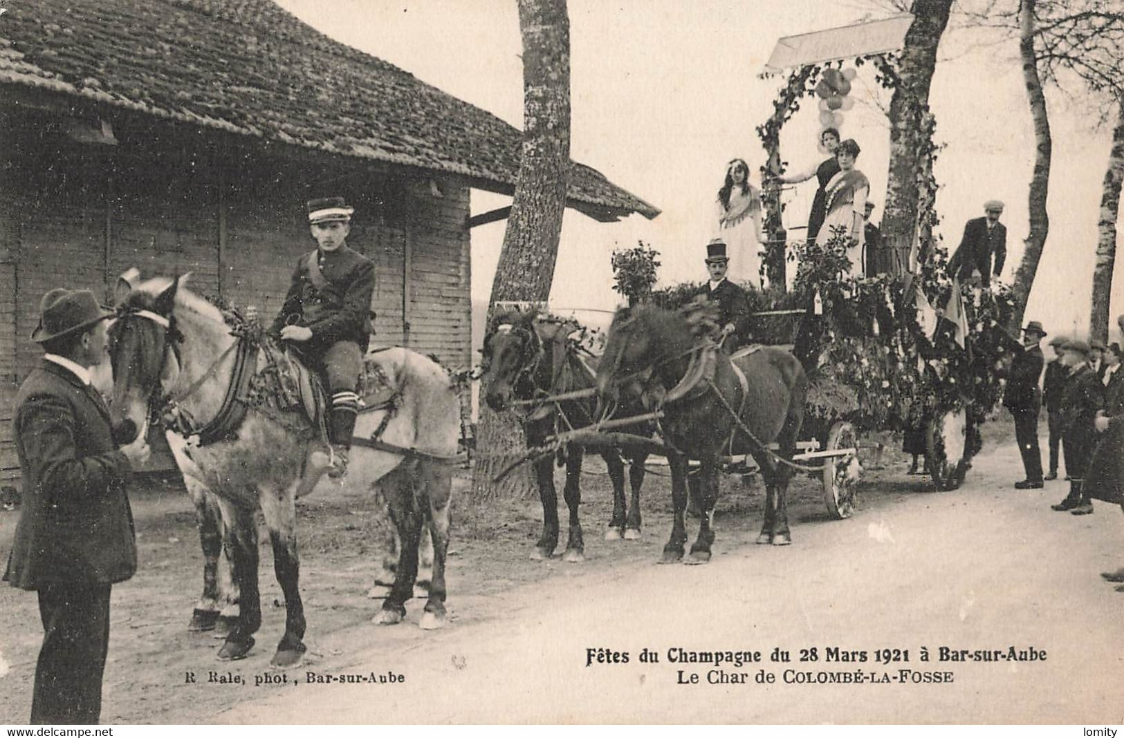
[[[1051,507],[1080,516],[1093,512],[1093,502],[1084,489],[1085,472],[1097,445],[1095,421],[1105,404],[1105,385],[1089,368],[1089,345],[1086,341],[1067,341],[1062,350],[1069,367],[1061,400],[1061,445],[1069,473],[1069,494]]]

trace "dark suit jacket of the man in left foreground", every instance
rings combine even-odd
[[[40,359],[19,388],[12,427],[24,500],[4,578],[36,590],[133,576],[137,549],[126,495],[133,470],[97,390]]]

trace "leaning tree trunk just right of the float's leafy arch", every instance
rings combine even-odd
[[[928,89],[951,7],[952,0],[914,0],[914,20],[898,64],[899,84],[890,99],[890,166],[881,230],[886,247],[899,263],[905,263],[913,248],[918,182],[927,181],[930,174],[928,160],[921,156],[930,130]]]

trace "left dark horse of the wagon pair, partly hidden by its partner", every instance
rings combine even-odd
[[[593,388],[593,370],[587,366],[569,340],[569,334],[579,329],[577,322],[547,322],[535,311],[510,311],[497,315],[484,337],[483,356],[487,371],[482,377],[487,388],[486,399],[493,410],[501,411],[513,400],[547,398],[572,390]],[[596,359],[589,363],[596,366]],[[593,421],[592,393],[587,399],[562,402],[544,401],[526,416],[524,430],[527,446],[541,446],[559,430],[588,426]],[[637,426],[642,435],[651,435],[651,427]],[[565,449],[565,486],[563,498],[570,509],[570,531],[564,558],[566,562],[584,561],[584,541],[578,507],[581,503],[581,464],[583,449],[570,445]],[[624,464],[615,449],[600,452],[613,482],[613,518],[606,529],[606,540],[636,540],[641,537],[640,490],[644,483],[646,453],[629,452],[631,504],[626,504]],[[538,498],[543,504],[543,532],[535,544],[531,558],[549,559],[559,543],[558,493],[554,489],[554,468],[551,456],[534,463],[538,483]]]

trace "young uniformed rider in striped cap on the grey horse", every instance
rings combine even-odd
[[[271,332],[289,341],[326,380],[332,395],[328,476],[347,471],[347,454],[359,411],[355,393],[371,334],[374,264],[347,247],[354,208],[343,198],[308,202],[308,222],[317,247],[302,255]]]

